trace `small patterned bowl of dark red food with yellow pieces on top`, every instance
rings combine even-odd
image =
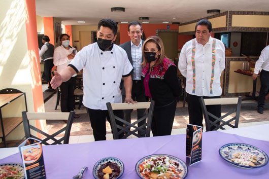
[[[124,172],[123,162],[116,157],[106,157],[95,163],[92,174],[95,179],[116,179]]]

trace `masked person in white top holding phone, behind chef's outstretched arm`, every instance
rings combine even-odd
[[[69,63],[74,59],[77,50],[71,47],[70,37],[68,34],[60,35],[61,46],[56,47],[54,50],[54,65],[57,67],[57,73],[61,73]],[[74,111],[75,108],[75,95],[74,91],[76,89],[76,79],[77,74],[73,74],[72,78],[68,81],[63,82],[60,85],[61,90],[61,112]],[[74,118],[79,118],[80,116],[75,114]]]

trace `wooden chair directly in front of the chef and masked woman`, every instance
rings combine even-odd
[[[112,132],[114,139],[119,139],[119,135],[125,133],[125,135],[121,138],[127,138],[130,135],[135,135],[137,137],[149,137],[150,136],[150,129],[151,129],[151,122],[154,110],[154,101],[151,102],[137,102],[135,104],[132,103],[107,103],[108,113],[111,121]],[[134,110],[134,109],[149,109],[148,114],[143,116],[142,118],[136,120],[133,123],[129,123],[124,119],[121,119],[114,115],[113,110]],[[116,123],[117,121],[122,122],[125,124],[125,127],[122,127]],[[145,124],[138,127],[137,124],[145,121]],[[134,130],[132,130],[134,128]],[[146,129],[145,129],[146,128]],[[119,130],[118,130],[119,129]],[[140,134],[138,134],[140,132]]]

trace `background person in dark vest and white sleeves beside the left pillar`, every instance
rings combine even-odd
[[[53,92],[54,89],[51,88],[51,69],[53,65],[53,53],[54,46],[49,43],[50,38],[47,35],[42,37],[42,43],[44,44],[39,51],[39,56],[44,60],[44,71],[42,74],[42,78],[49,83],[48,89],[45,92]]]

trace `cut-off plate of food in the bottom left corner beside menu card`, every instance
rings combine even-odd
[[[20,163],[3,163],[0,164],[0,178],[6,179],[23,179],[24,169]]]

